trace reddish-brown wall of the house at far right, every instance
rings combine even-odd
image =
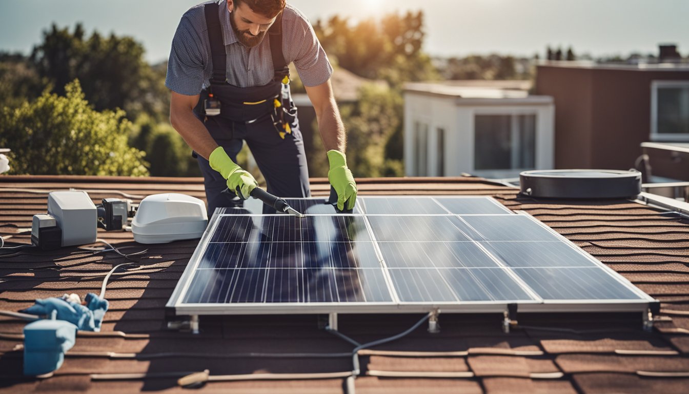
[[[657,80],[689,80],[689,70],[538,66],[536,93],[555,99],[556,168],[632,167],[650,140]]]

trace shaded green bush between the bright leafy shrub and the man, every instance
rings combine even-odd
[[[153,177],[200,177],[192,149],[167,122],[139,115],[130,134],[130,145],[146,152]]]

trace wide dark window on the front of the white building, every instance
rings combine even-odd
[[[475,115],[474,169],[535,168],[536,115]]]

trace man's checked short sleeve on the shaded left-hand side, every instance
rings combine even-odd
[[[194,14],[185,14],[172,39],[172,49],[167,61],[165,86],[181,95],[198,95],[203,88],[204,67],[207,64],[203,50],[206,45],[199,30],[205,30],[205,19],[198,19]],[[195,26],[201,25],[201,29]]]

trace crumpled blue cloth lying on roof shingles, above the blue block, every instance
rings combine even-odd
[[[34,306],[21,312],[46,315],[50,319],[65,320],[83,331],[101,331],[101,323],[108,306],[107,300],[101,299],[94,293],[88,293],[85,300],[86,306],[76,302],[68,302],[58,297],[37,299]]]

